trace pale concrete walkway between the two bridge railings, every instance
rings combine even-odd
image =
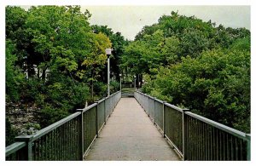
[[[121,98],[85,160],[180,160],[135,98]]]

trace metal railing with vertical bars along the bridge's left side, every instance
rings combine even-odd
[[[119,91],[35,135],[16,137],[5,149],[6,160],[83,160],[120,98]]]

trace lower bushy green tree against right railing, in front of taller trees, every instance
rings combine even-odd
[[[212,120],[249,132],[249,54],[236,49],[213,49],[168,68],[160,67],[143,90],[185,106]],[[239,124],[239,125],[238,125]]]

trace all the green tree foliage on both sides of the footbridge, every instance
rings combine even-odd
[[[6,7],[6,101],[41,108],[41,128],[107,95],[119,74],[143,92],[250,132],[250,31],[172,12],[127,41],[79,6]],[[6,142],[15,136],[6,119]]]

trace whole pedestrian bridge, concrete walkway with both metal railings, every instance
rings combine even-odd
[[[250,135],[141,92],[121,92],[20,135],[6,160],[250,160]]]

